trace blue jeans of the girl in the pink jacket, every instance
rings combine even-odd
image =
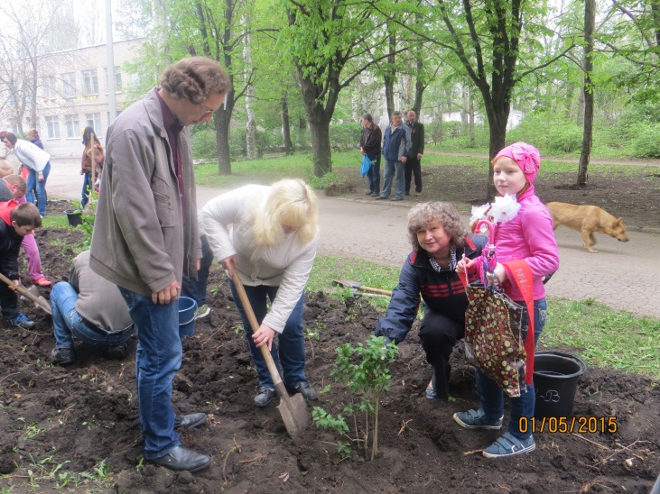
[[[520,303],[520,302],[518,302]],[[524,303],[521,305],[525,306]],[[547,303],[545,298],[536,300],[534,303],[534,343],[538,342],[539,336],[544,330],[545,316],[547,315]],[[523,319],[521,323],[521,335],[523,342],[527,335],[527,327],[529,326],[529,317],[527,311],[523,312]],[[504,415],[504,391],[499,389],[494,380],[489,379],[481,371],[476,372],[477,390],[481,398],[481,407],[486,412],[486,416],[497,420],[500,416]],[[525,434],[520,432],[520,418],[532,418],[534,416],[535,407],[535,389],[534,385],[527,386],[527,391],[521,393],[519,398],[511,398],[511,420],[508,424],[509,434],[517,437],[518,439],[527,439],[532,435],[531,431]]]

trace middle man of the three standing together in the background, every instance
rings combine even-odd
[[[393,112],[392,123],[386,128],[383,138],[383,156],[385,157],[383,193],[376,197],[376,200],[389,199],[393,178],[395,179],[395,197],[392,200],[400,201],[404,198],[404,164],[408,160],[411,144],[410,129],[404,125],[401,112]]]

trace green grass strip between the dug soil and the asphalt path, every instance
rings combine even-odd
[[[403,262],[403,260],[402,260]],[[399,269],[352,258],[317,256],[307,290],[332,288],[332,279],[352,279],[373,288],[392,289]],[[343,290],[335,289],[341,297]],[[371,299],[386,310],[386,298]],[[570,348],[589,365],[644,374],[660,380],[660,319],[615,311],[594,300],[548,298],[548,319],[541,348]]]

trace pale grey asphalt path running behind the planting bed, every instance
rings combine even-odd
[[[51,165],[49,197],[79,200],[79,160],[51,160]],[[222,192],[198,187],[199,206]],[[320,196],[319,253],[401,266],[410,252],[406,215],[414,204],[414,197],[394,203]],[[464,217],[466,224],[468,219]],[[599,253],[584,249],[579,232],[560,227],[555,234],[561,261],[545,285],[549,295],[594,298],[615,309],[660,317],[660,233],[628,231],[625,243],[597,233]]]

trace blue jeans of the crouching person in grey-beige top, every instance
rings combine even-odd
[[[135,333],[133,328],[125,331],[103,334],[101,330],[94,331],[82,320],[76,312],[78,292],[70,283],[60,281],[51,290],[52,325],[55,334],[55,346],[57,348],[73,348],[73,336],[80,341],[99,346],[116,346],[128,341]]]

